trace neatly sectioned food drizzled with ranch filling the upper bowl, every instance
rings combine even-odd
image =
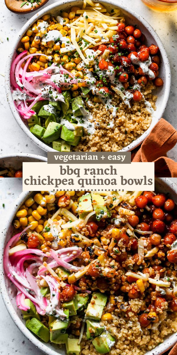
[[[45,14],[25,32],[11,65],[19,115],[58,151],[125,149],[152,124],[153,90],[163,86],[159,47],[144,43],[141,28],[115,6],[108,12],[88,0]]]

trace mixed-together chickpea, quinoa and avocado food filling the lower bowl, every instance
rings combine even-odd
[[[176,215],[164,193],[31,193],[4,251],[26,327],[76,355],[164,342],[177,331]]]

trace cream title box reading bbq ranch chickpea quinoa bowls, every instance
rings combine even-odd
[[[23,191],[152,191],[154,163],[23,163]]]

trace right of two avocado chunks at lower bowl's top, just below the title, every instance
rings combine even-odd
[[[111,213],[104,205],[104,198],[95,192],[92,192],[91,195],[93,209],[96,213],[96,219],[99,221],[101,218],[109,218],[111,216]]]

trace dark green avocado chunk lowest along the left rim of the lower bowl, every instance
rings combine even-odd
[[[48,343],[50,339],[50,331],[49,329],[42,324],[38,319],[32,318],[31,320],[26,321],[26,327],[36,334],[40,339],[44,340],[45,343]]]

